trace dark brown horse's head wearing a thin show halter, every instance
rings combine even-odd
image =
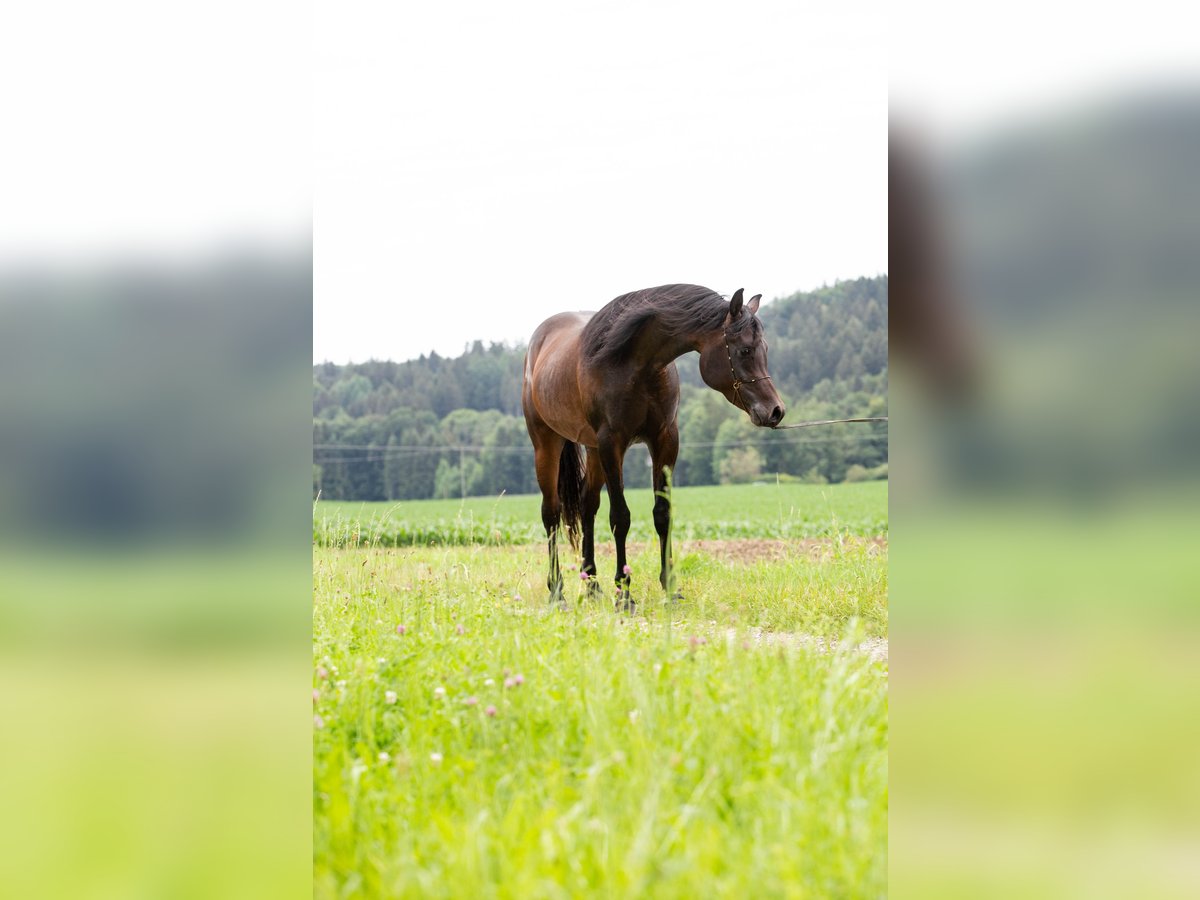
[[[784,418],[784,401],[767,372],[767,341],[755,313],[762,294],[742,302],[742,288],[730,300],[730,311],[720,331],[709,335],[700,350],[700,376],[720,391],[750,421],[769,428]]]

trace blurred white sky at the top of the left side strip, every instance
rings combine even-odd
[[[6,5],[0,265],[306,241],[310,36],[288,0]]]

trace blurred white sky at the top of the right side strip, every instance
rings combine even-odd
[[[1198,16],[1174,0],[906,4],[892,109],[947,144],[1154,90],[1196,90]]]

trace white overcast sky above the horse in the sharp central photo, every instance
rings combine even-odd
[[[314,360],[887,271],[882,7],[323,4]]]

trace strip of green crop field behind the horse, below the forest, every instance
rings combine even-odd
[[[738,485],[680,487],[674,492],[674,534],[689,539],[823,538],[876,535],[888,528],[886,481],[845,485]],[[654,539],[649,490],[626,493],[634,512],[630,540]],[[313,544],[514,545],[544,540],[539,496],[473,497],[466,500],[313,504]],[[602,497],[598,534],[607,534]]]

